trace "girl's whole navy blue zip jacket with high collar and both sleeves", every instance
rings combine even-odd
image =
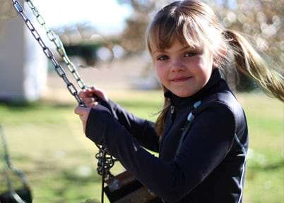
[[[191,97],[167,92],[167,112],[159,139],[154,124],[109,101],[91,109],[85,134],[102,144],[122,165],[165,202],[242,202],[248,147],[242,107],[219,71]],[[192,111],[193,104],[201,105]],[[194,120],[177,152],[189,112]],[[143,147],[159,152],[155,157]]]

